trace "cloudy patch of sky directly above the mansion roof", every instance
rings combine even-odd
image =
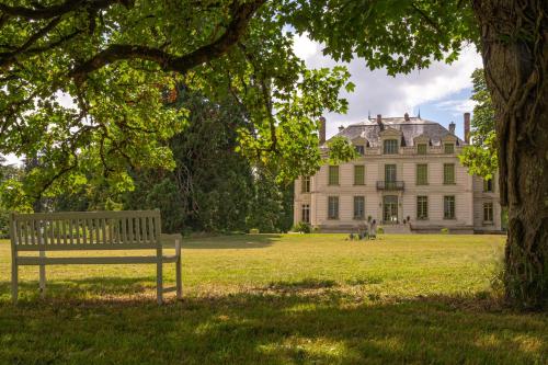
[[[336,61],[322,55],[322,46],[310,41],[306,34],[296,35],[294,50],[302,58],[308,68],[333,67]],[[463,114],[472,112],[471,73],[481,68],[481,56],[470,45],[452,65],[433,62],[430,68],[409,75],[391,77],[386,70],[370,71],[364,59],[354,59],[345,65],[351,72],[351,81],[356,85],[354,92],[341,95],[349,101],[345,115],[326,114],[327,137],[338,133],[339,126],[381,114],[383,116],[403,116],[407,112],[416,116],[419,110],[424,119],[437,122],[445,127],[455,122],[456,134],[463,138]]]

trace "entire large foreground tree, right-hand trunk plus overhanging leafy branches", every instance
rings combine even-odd
[[[14,5],[15,3],[15,5]],[[506,295],[548,298],[547,13],[545,0],[52,0],[0,5],[0,152],[45,150],[27,194],[81,180],[127,186],[128,164],[173,160],[181,130],[163,109],[173,79],[207,98],[231,94],[252,125],[242,151],[286,178],[321,161],[316,121],[344,112],[342,69],[306,70],[288,30],[307,32],[335,59],[361,57],[389,75],[481,50],[495,110],[501,202],[509,205]],[[47,70],[44,72],[44,70]],[[77,107],[57,103],[69,94]],[[93,174],[98,176],[98,174]]]

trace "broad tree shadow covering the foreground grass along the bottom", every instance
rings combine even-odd
[[[164,306],[96,296],[139,292],[149,281],[73,282],[91,287],[89,299],[67,290],[70,282],[54,283],[53,292],[59,285],[70,295],[0,301],[0,363],[543,364],[548,354],[546,313],[511,312],[489,296],[356,301],[312,280],[275,283],[289,288],[283,294],[191,294]],[[304,294],[313,288],[329,293]]]

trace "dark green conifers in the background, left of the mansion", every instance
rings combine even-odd
[[[175,169],[134,171],[136,189],[124,195],[125,208],[159,208],[167,231],[287,230],[292,186],[235,151],[237,130],[247,127],[240,106],[183,87],[173,107],[190,111],[187,127],[170,141]]]

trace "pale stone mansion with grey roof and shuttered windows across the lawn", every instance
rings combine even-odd
[[[465,139],[469,118],[466,113]],[[324,127],[324,140],[322,133]],[[295,224],[321,231],[352,231],[368,220],[387,231],[501,231],[496,176],[483,181],[468,174],[458,159],[467,142],[455,136],[455,124],[448,130],[407,114],[378,115],[338,136],[351,140],[359,158],[322,166],[295,182]],[[322,150],[328,152],[326,145]]]

